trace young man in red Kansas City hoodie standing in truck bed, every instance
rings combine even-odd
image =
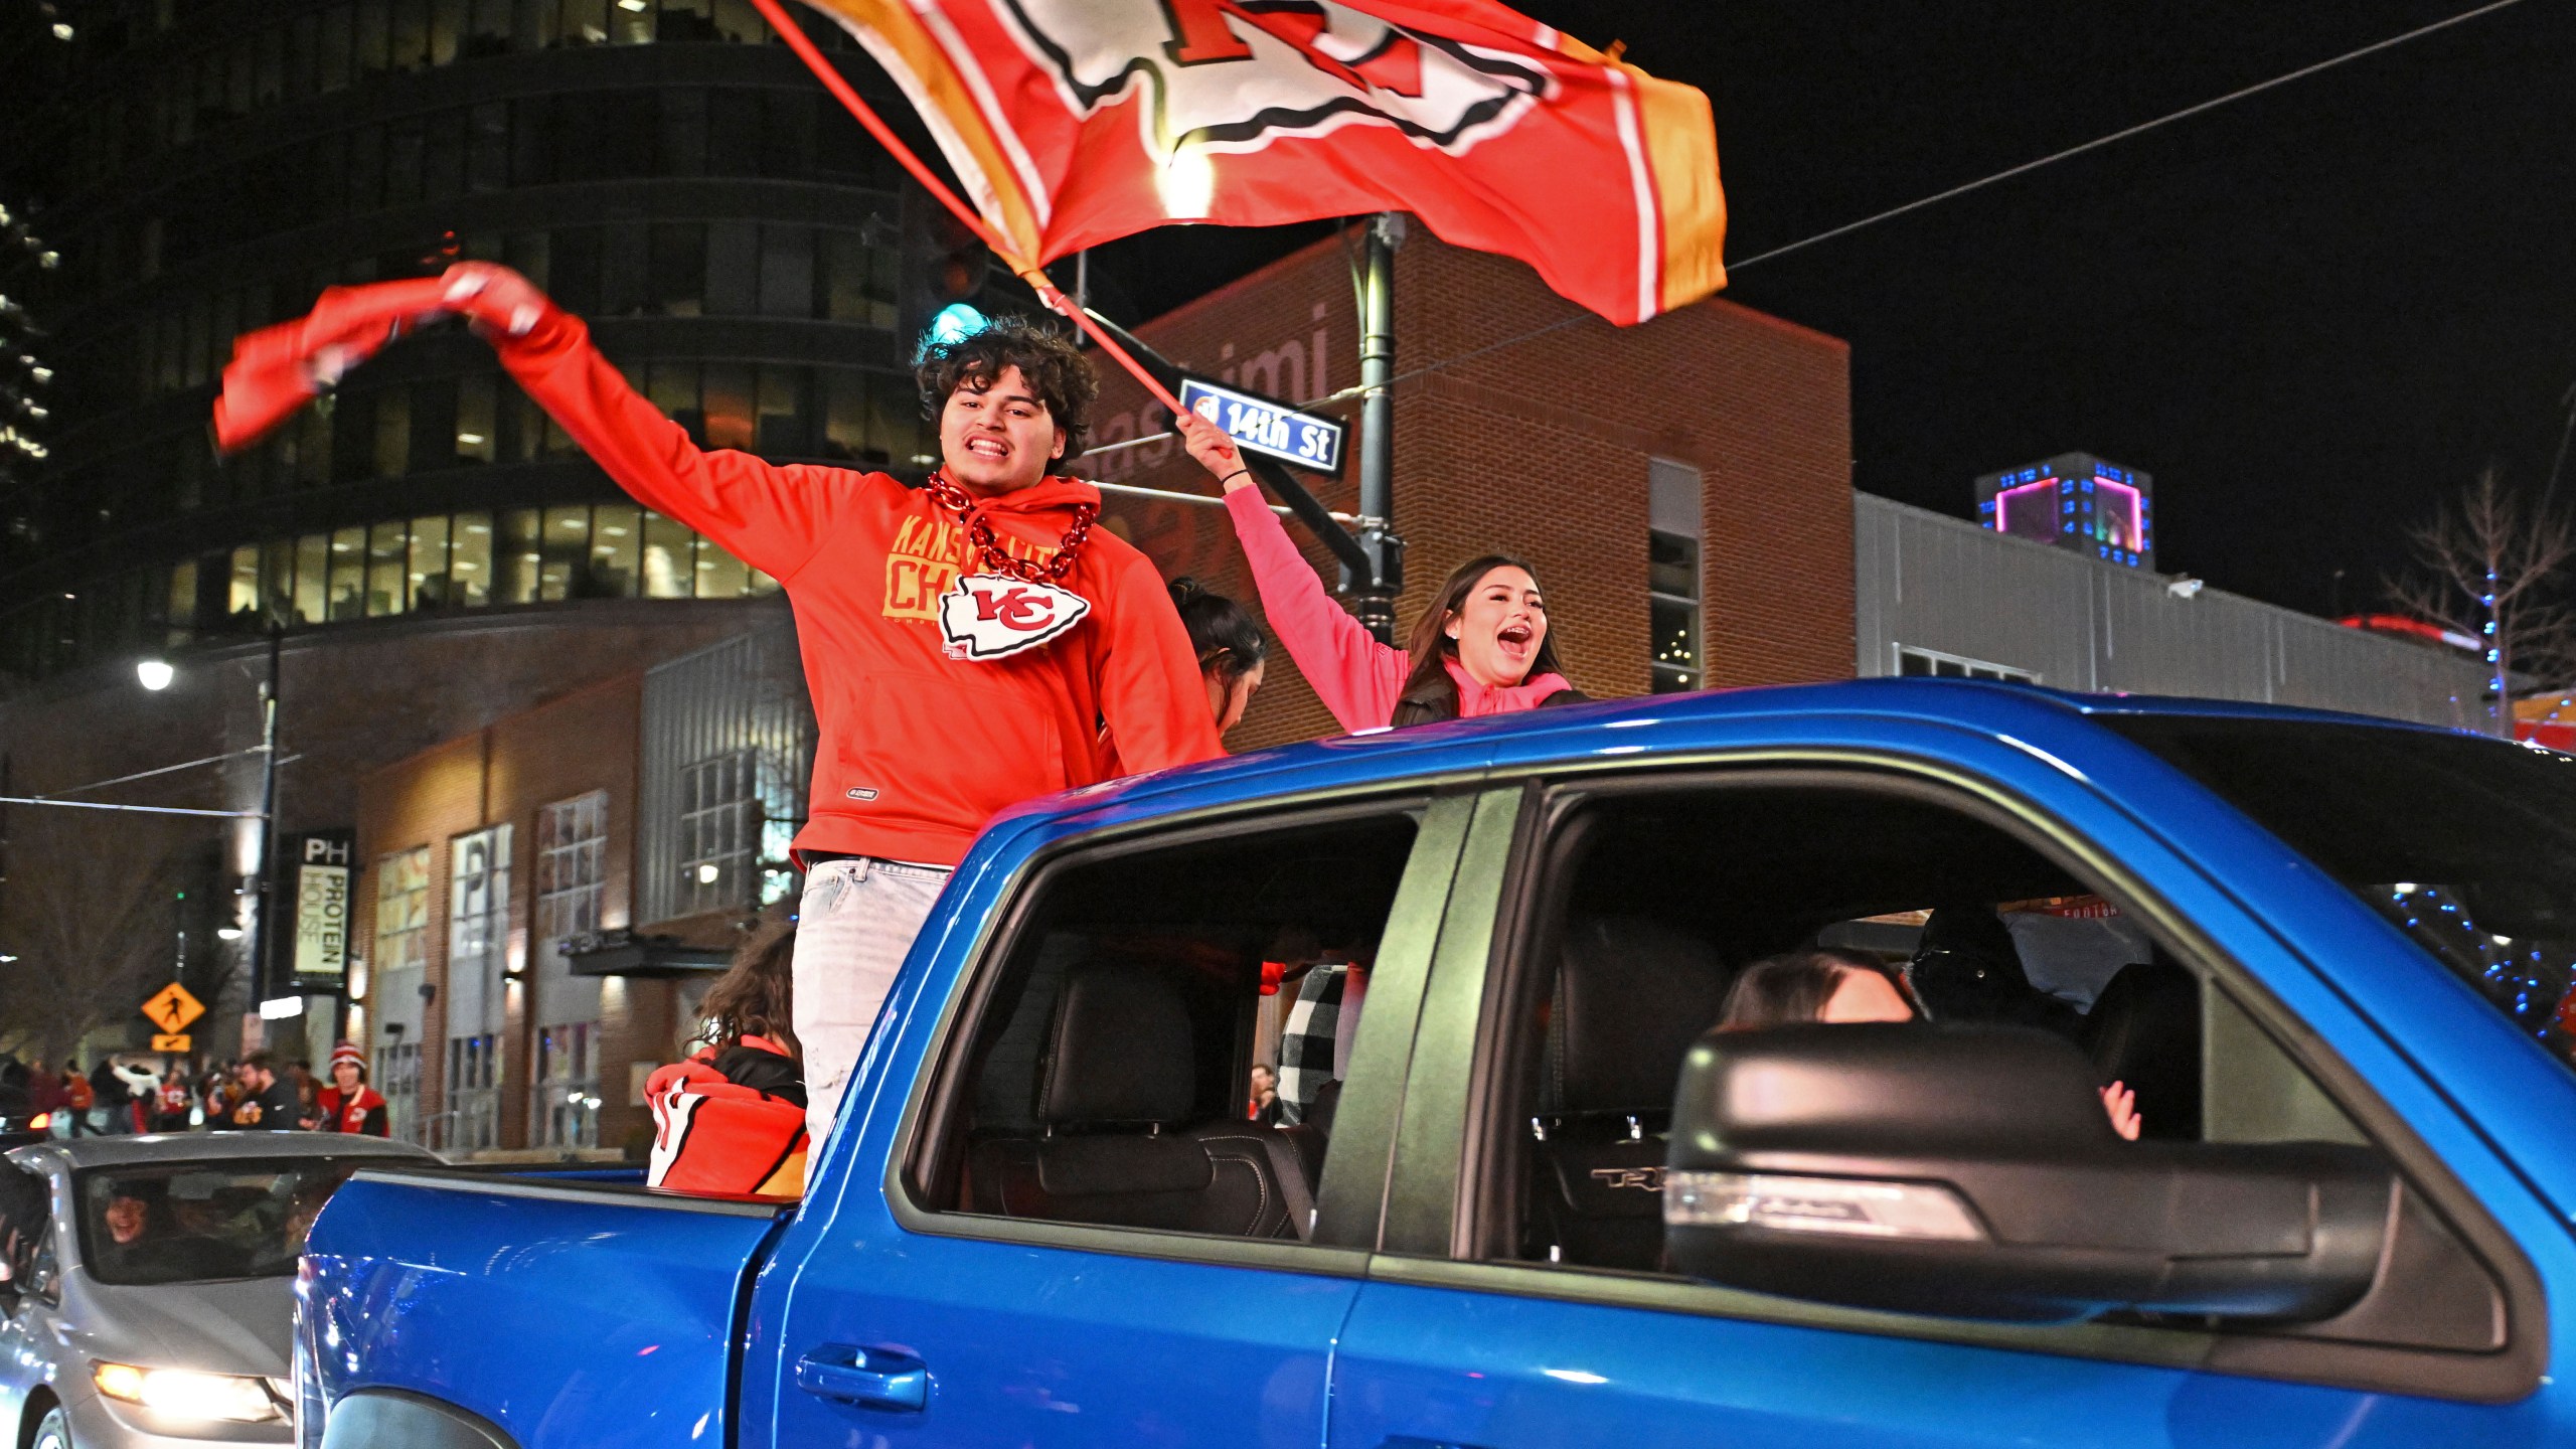
[[[1092,529],[1100,490],[1048,477],[1082,451],[1090,361],[1028,322],[930,345],[940,472],[912,490],[698,449],[515,271],[459,263],[443,297],[618,487],[796,608],[822,740],[793,1016],[824,1142],[894,969],[994,812],[1100,779],[1103,727],[1131,771],[1224,753],[1162,575]]]

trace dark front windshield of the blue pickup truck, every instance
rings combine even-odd
[[[2476,735],[2112,714],[2576,1067],[2576,758]]]

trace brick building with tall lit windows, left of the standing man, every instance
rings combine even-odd
[[[644,1070],[672,1060],[714,969],[793,884],[809,761],[773,611],[368,771],[348,1031],[371,1042],[397,1134],[636,1147]]]

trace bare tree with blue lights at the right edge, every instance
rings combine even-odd
[[[2416,572],[2388,585],[2391,601],[2481,642],[2494,727],[2512,737],[2517,670],[2553,688],[2576,681],[2576,611],[2558,593],[2576,557],[2576,518],[2550,498],[2527,503],[2488,467],[2406,541]]]

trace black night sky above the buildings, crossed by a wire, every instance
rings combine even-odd
[[[2473,5],[1522,10],[1708,90],[1734,263]],[[1316,235],[1170,227],[1095,253],[1095,281],[1151,315]],[[2156,477],[2161,570],[2375,606],[2439,495],[2486,464],[2537,490],[2558,446],[2576,5],[2522,0],[1744,268],[1726,297],[1850,338],[1868,492],[1968,516],[1978,472],[2092,451]]]

